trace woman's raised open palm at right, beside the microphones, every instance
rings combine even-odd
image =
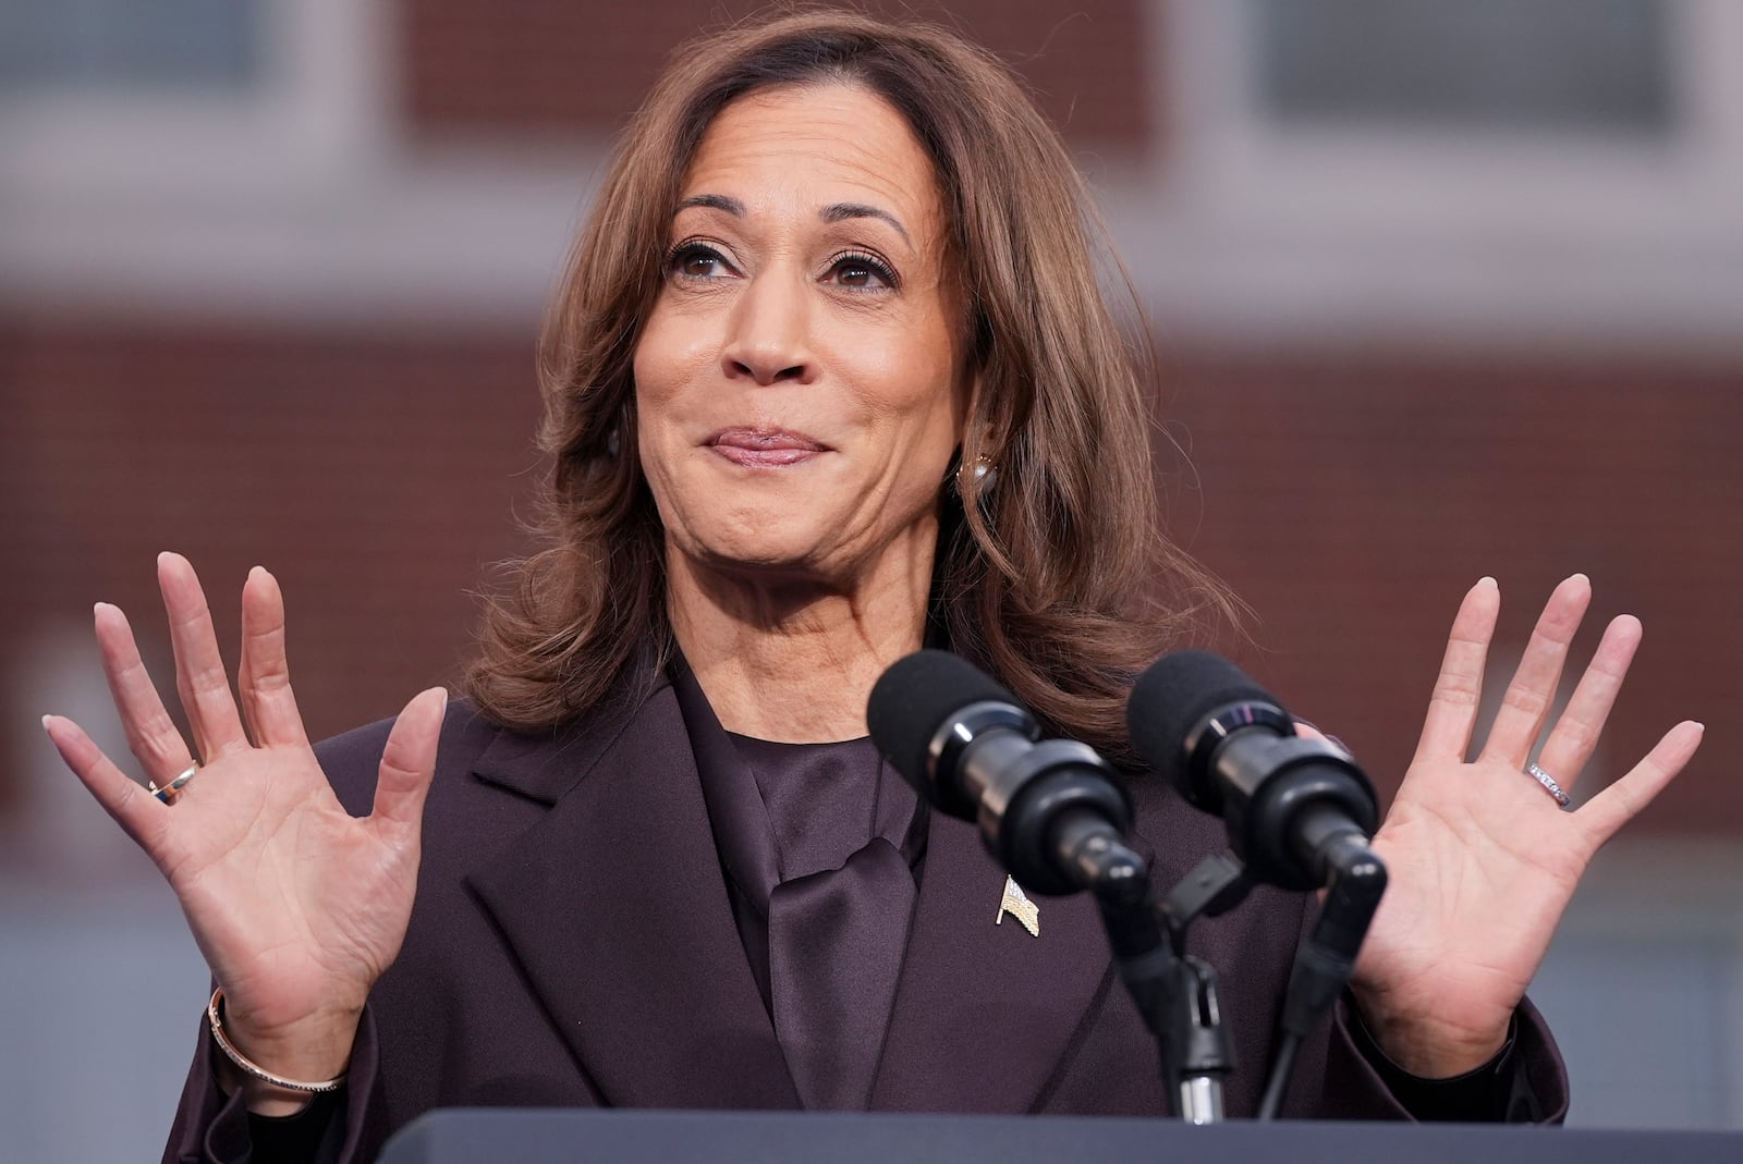
[[[1577,812],[1527,774],[1590,601],[1584,575],[1555,589],[1466,763],[1501,594],[1483,579],[1464,596],[1415,758],[1373,838],[1391,880],[1351,985],[1375,1039],[1417,1075],[1457,1075],[1501,1049],[1586,864],[1701,742],[1699,723],[1679,723]],[[1638,645],[1640,622],[1614,619],[1544,737],[1539,765],[1563,789],[1591,758]]]

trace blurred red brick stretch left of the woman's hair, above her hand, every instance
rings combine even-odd
[[[392,714],[450,678],[476,610],[465,591],[518,545],[511,507],[535,464],[530,347],[0,326],[7,643],[89,626],[105,599],[167,664],[153,561],[174,549],[200,572],[234,666],[241,584],[258,563],[286,591],[310,730]],[[31,704],[35,676],[7,674],[16,660],[0,659],[7,699]],[[101,676],[94,648],[89,666]],[[160,683],[174,702],[167,666]]]

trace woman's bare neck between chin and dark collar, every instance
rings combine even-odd
[[[920,648],[933,542],[852,584],[715,570],[666,551],[673,634],[720,725],[821,744],[866,734],[866,697]]]

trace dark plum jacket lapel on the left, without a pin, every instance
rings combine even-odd
[[[553,803],[467,880],[605,1103],[797,1106],[739,943],[673,690],[476,774]]]

